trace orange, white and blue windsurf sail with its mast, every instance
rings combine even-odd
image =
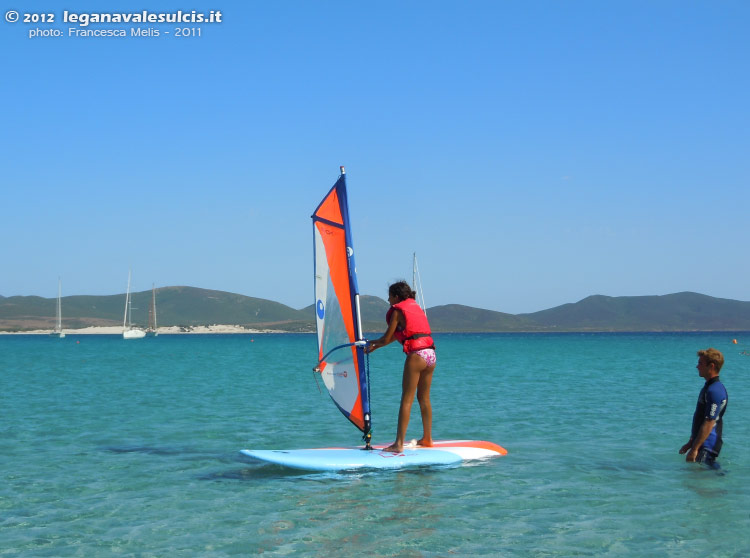
[[[320,373],[339,410],[363,432],[370,448],[367,341],[362,333],[344,167],[312,220],[318,332],[318,364],[314,370]]]

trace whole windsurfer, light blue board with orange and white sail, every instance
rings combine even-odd
[[[363,446],[292,450],[242,450],[253,459],[310,471],[359,468],[399,469],[415,465],[452,465],[470,459],[505,455],[492,442],[434,441],[416,443],[401,453],[384,451],[372,443],[372,414],[367,339],[362,331],[360,295],[354,264],[346,172],[341,175],[312,215],[314,239],[315,320],[317,365],[315,374],[325,384],[338,410],[362,434]]]

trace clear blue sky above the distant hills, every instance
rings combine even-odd
[[[131,267],[307,306],[346,165],[364,294],[417,252],[428,306],[750,300],[747,2],[59,6],[2,10],[56,16],[0,22],[4,296],[122,293]],[[103,6],[223,22],[67,36]]]

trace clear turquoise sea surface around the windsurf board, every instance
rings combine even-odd
[[[2,335],[0,557],[750,556],[750,333],[436,342],[435,437],[506,457],[325,474],[245,458],[360,443],[316,386],[313,335]],[[677,453],[709,346],[730,396],[719,473]],[[391,442],[403,356],[370,358]]]

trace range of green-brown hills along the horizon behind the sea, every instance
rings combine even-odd
[[[133,320],[146,325],[151,291],[133,293]],[[160,326],[240,325],[292,332],[315,330],[314,307],[295,310],[278,302],[195,287],[156,291]],[[55,298],[0,296],[0,331],[52,329]],[[375,296],[360,299],[363,328],[385,330],[388,303]],[[62,299],[63,327],[122,324],[125,294],[67,296]],[[502,331],[750,331],[750,302],[697,293],[663,296],[594,295],[530,314],[506,314],[459,304],[427,309],[435,332]]]

